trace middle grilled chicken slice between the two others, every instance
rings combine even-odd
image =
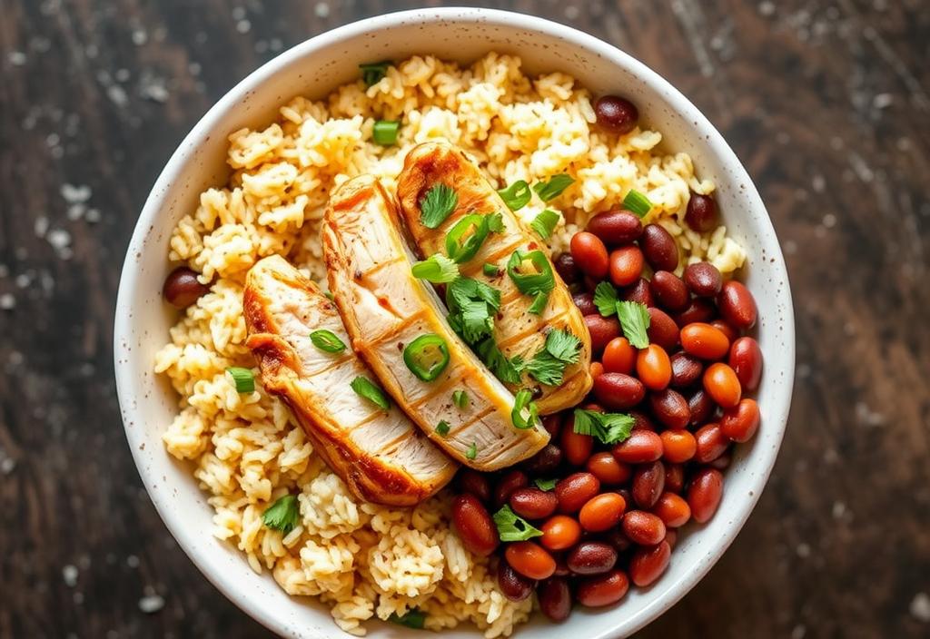
[[[453,333],[432,287],[410,272],[398,223],[396,202],[372,176],[355,177],[330,197],[323,252],[352,347],[410,418],[458,462],[490,471],[525,460],[549,434],[538,421],[514,427],[513,396]],[[404,359],[405,346],[426,334],[444,340],[449,356],[429,382]],[[456,391],[468,398],[464,408],[453,403]]]

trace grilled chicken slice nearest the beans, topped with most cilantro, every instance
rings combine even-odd
[[[420,222],[420,201],[435,184],[455,189],[458,205],[438,228],[426,228]],[[572,302],[565,282],[552,269],[555,287],[540,315],[528,312],[533,297],[520,293],[507,274],[507,262],[514,251],[545,249],[533,232],[507,207],[475,163],[456,147],[445,142],[425,142],[406,156],[404,170],[397,180],[397,195],[405,226],[416,244],[418,253],[429,256],[445,254],[445,236],[463,216],[472,213],[500,213],[504,229],[490,233],[477,254],[459,268],[462,275],[484,281],[501,293],[501,307],[495,320],[494,337],[500,350],[509,358],[533,359],[543,347],[546,334],[558,328],[581,340],[577,364],[565,368],[561,385],[541,385],[527,373],[517,388],[536,387],[536,404],[540,414],[562,411],[575,406],[591,390],[591,338],[578,307]],[[546,251],[544,251],[546,253]],[[498,275],[485,275],[485,263],[498,267]],[[551,266],[551,263],[550,263]]]

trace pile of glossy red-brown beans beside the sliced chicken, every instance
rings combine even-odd
[[[625,118],[625,105],[601,106]],[[692,193],[685,223],[715,228],[713,199]],[[502,550],[501,592],[521,600],[535,590],[552,620],[575,602],[608,606],[631,581],[658,580],[678,528],[717,510],[734,442],[759,426],[758,405],[744,397],[762,375],[762,351],[743,335],[756,321],[752,295],[706,262],[678,277],[678,260],[664,228],[625,210],[595,215],[554,260],[591,333],[594,384],[579,408],[630,415],[629,437],[606,445],[578,434],[565,411],[544,418],[551,443],[518,469],[459,472],[453,517],[463,543],[485,556]],[[648,346],[631,346],[617,315],[599,312],[593,293],[603,281],[618,300],[646,306]],[[541,536],[501,544],[491,514],[504,506]]]

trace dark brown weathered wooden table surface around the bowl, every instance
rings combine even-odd
[[[234,83],[418,4],[0,1],[0,636],[267,635],[141,487],[113,385],[120,266],[155,176]],[[798,368],[775,473],[640,636],[930,636],[927,1],[480,4],[575,25],[677,85],[746,163],[788,260]]]

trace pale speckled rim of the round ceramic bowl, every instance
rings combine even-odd
[[[589,33],[583,33],[550,20],[543,20],[525,14],[496,9],[445,7],[400,11],[353,22],[339,27],[338,29],[312,37],[265,63],[259,67],[258,70],[250,73],[238,85],[235,85],[223,98],[220,98],[217,104],[207,111],[200,122],[193,127],[191,133],[184,138],[178,150],[172,154],[165,169],[158,177],[153,186],[152,193],[141,212],[126,253],[126,261],[121,275],[116,303],[113,347],[117,393],[123,413],[124,424],[126,425],[126,437],[130,445],[130,450],[132,450],[140,471],[140,476],[146,489],[152,496],[153,503],[159,515],[161,515],[167,528],[177,541],[179,541],[181,548],[190,556],[193,563],[203,572],[206,578],[231,599],[236,606],[246,611],[246,613],[254,619],[259,620],[259,622],[270,630],[280,634],[295,636],[303,634],[304,632],[310,632],[310,628],[295,628],[283,620],[283,616],[274,614],[274,611],[270,609],[256,606],[256,604],[249,599],[248,592],[245,589],[237,588],[237,583],[224,574],[222,568],[219,567],[216,562],[211,562],[208,557],[201,556],[199,551],[194,547],[193,536],[200,537],[202,535],[208,535],[208,531],[202,529],[192,530],[192,527],[188,525],[183,515],[171,507],[171,500],[166,492],[154,489],[159,477],[154,476],[153,471],[147,467],[143,455],[139,450],[140,436],[134,433],[129,427],[130,424],[134,422],[138,424],[145,421],[144,414],[140,412],[133,399],[138,396],[143,389],[140,388],[140,380],[132,375],[129,364],[130,359],[134,357],[130,353],[131,344],[133,339],[137,337],[137,333],[134,331],[134,324],[137,320],[134,319],[132,309],[129,306],[129,300],[139,280],[140,264],[138,257],[146,250],[146,237],[151,230],[155,228],[156,218],[161,215],[161,205],[166,199],[166,193],[169,192],[173,185],[179,180],[180,169],[186,159],[188,150],[196,145],[198,141],[206,139],[214,132],[215,123],[223,113],[235,109],[237,103],[243,98],[246,98],[248,94],[255,91],[257,87],[266,82],[275,73],[286,67],[292,60],[303,58],[312,51],[318,50],[323,46],[329,46],[343,39],[354,38],[359,35],[364,35],[365,33],[377,32],[405,23],[427,24],[437,21],[486,23],[491,25],[503,24],[508,27],[524,29],[528,32],[547,33],[573,46],[585,49],[587,52],[591,53],[591,55],[609,60],[612,64],[618,66],[618,68],[635,75],[642,80],[644,84],[650,85],[653,90],[660,93],[663,98],[666,99],[671,108],[677,111],[681,117],[694,123],[697,132],[703,137],[706,137],[708,144],[711,146],[713,152],[717,154],[720,162],[726,165],[727,171],[732,172],[732,175],[738,179],[740,188],[744,191],[742,197],[746,199],[750,209],[748,215],[753,218],[753,224],[761,229],[764,239],[760,241],[765,241],[768,251],[766,256],[772,258],[772,261],[775,263],[772,267],[775,268],[776,275],[783,284],[783,286],[778,289],[778,294],[780,296],[777,300],[777,304],[782,309],[782,317],[779,319],[782,322],[781,331],[783,332],[782,339],[785,349],[783,353],[784,361],[782,362],[781,369],[782,376],[785,377],[787,381],[776,386],[772,394],[765,398],[765,401],[768,402],[767,408],[770,411],[774,411],[776,419],[769,419],[764,423],[766,446],[762,450],[759,450],[759,447],[753,447],[751,453],[753,458],[747,462],[752,465],[751,477],[753,482],[751,484],[751,490],[744,500],[737,502],[738,505],[730,509],[728,513],[729,521],[726,522],[727,526],[729,526],[728,534],[710,540],[710,543],[705,548],[705,555],[696,562],[691,572],[671,583],[660,580],[656,586],[648,589],[644,594],[644,596],[651,597],[651,599],[632,615],[617,615],[617,612],[622,610],[622,606],[614,608],[612,611],[600,613],[612,614],[617,617],[616,623],[598,632],[585,634],[586,639],[608,639],[609,637],[627,636],[632,632],[642,629],[650,621],[658,618],[660,614],[677,603],[685,593],[688,593],[697,582],[707,574],[720,556],[724,554],[724,551],[729,547],[730,543],[735,539],[737,532],[745,524],[755,503],[758,501],[764,489],[765,482],[775,464],[777,451],[784,435],[788,411],[790,409],[791,380],[793,380],[794,370],[794,320],[788,274],[784,267],[784,259],[778,248],[775,230],[772,228],[771,221],[768,218],[758,192],[752,185],[750,176],[746,173],[746,170],[737,159],[733,150],[727,146],[724,138],[707,118],[697,110],[697,107],[687,98],[684,98],[677,89],[659,76],[658,73],[653,72],[642,62],[633,59],[630,55],[620,51],[615,46],[611,46]],[[220,133],[225,136],[228,132],[224,131]],[[737,457],[738,456],[739,455],[737,455]],[[721,517],[723,513],[718,513],[717,516]],[[593,614],[598,613],[597,611],[593,611]],[[573,618],[569,619],[561,628],[565,632],[578,632],[579,629],[584,630],[584,627],[588,625],[586,622],[590,618],[591,616],[588,614],[581,616],[576,613],[573,615]],[[334,634],[339,634],[340,636],[350,636],[348,634],[342,634],[335,625],[333,626],[333,631]],[[529,633],[533,631],[525,630],[524,632],[525,634],[520,632],[520,629],[517,629],[515,634],[516,636],[528,636]],[[472,632],[472,634],[478,636],[478,633]]]

